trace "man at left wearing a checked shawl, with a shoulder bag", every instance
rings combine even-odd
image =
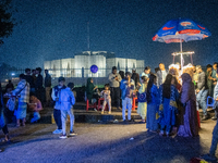
[[[16,126],[20,126],[20,120],[22,120],[22,125],[25,126],[26,122],[26,109],[29,102],[29,84],[25,80],[25,75],[20,75],[20,83],[12,91],[12,96],[19,96],[19,108],[15,112],[16,115]]]

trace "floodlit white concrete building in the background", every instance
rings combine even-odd
[[[94,64],[98,66],[96,74],[89,70]],[[112,66],[118,71],[136,68],[142,73],[144,60],[116,58],[113,52],[107,51],[83,51],[74,58],[44,62],[44,68],[49,70],[52,77],[107,77]]]

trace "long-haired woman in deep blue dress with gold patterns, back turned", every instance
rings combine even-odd
[[[158,121],[160,124],[160,136],[164,136],[165,131],[167,136],[169,136],[172,126],[175,125],[175,115],[178,114],[177,101],[179,99],[179,92],[171,82],[172,75],[168,74],[165,83],[159,88],[160,106]]]

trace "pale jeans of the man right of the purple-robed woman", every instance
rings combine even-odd
[[[198,105],[202,108],[204,115],[207,115],[207,95],[208,89],[205,89],[201,90],[196,96],[196,100],[198,102]]]

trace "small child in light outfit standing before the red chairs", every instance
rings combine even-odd
[[[110,89],[110,85],[106,84],[105,85],[105,90],[102,90],[100,92],[100,95],[104,96],[104,103],[102,103],[101,114],[104,114],[105,106],[106,106],[107,103],[108,103],[108,109],[109,109],[108,114],[111,114],[111,97],[110,97],[110,90],[109,89]]]

